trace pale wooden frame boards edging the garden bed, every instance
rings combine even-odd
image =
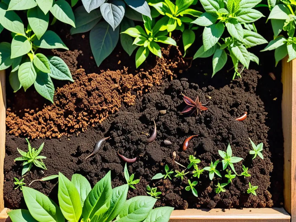
[[[296,222],[296,60],[282,62],[282,125],[284,134],[284,208],[174,210],[170,222]],[[4,208],[6,136],[5,72],[0,71],[0,222],[10,221]],[[276,170],[276,169],[275,169]],[[289,215],[288,213],[291,215]]]

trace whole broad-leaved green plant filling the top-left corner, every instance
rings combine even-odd
[[[15,12],[17,10],[21,12],[20,14],[26,12],[27,28]],[[34,84],[36,91],[53,103],[52,78],[73,82],[72,75],[62,59],[56,56],[46,57],[42,53],[36,54],[36,50],[38,48],[68,50],[61,38],[47,28],[49,12],[56,19],[75,27],[70,5],[65,0],[54,2],[24,0],[22,3],[19,0],[11,0],[0,2],[0,11],[0,26],[11,31],[13,38],[11,43],[0,43],[0,70],[12,66],[9,83],[14,92],[21,87],[26,91]]]

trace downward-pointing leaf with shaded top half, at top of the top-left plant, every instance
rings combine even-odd
[[[44,12],[37,6],[27,12],[28,21],[37,38],[40,39],[48,28],[49,13]]]

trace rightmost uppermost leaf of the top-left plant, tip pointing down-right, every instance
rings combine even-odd
[[[67,1],[55,1],[54,5],[51,9],[49,9],[49,11],[52,13],[52,15],[54,15],[55,18],[57,18],[57,20],[72,25],[75,28],[75,17],[72,8]]]

